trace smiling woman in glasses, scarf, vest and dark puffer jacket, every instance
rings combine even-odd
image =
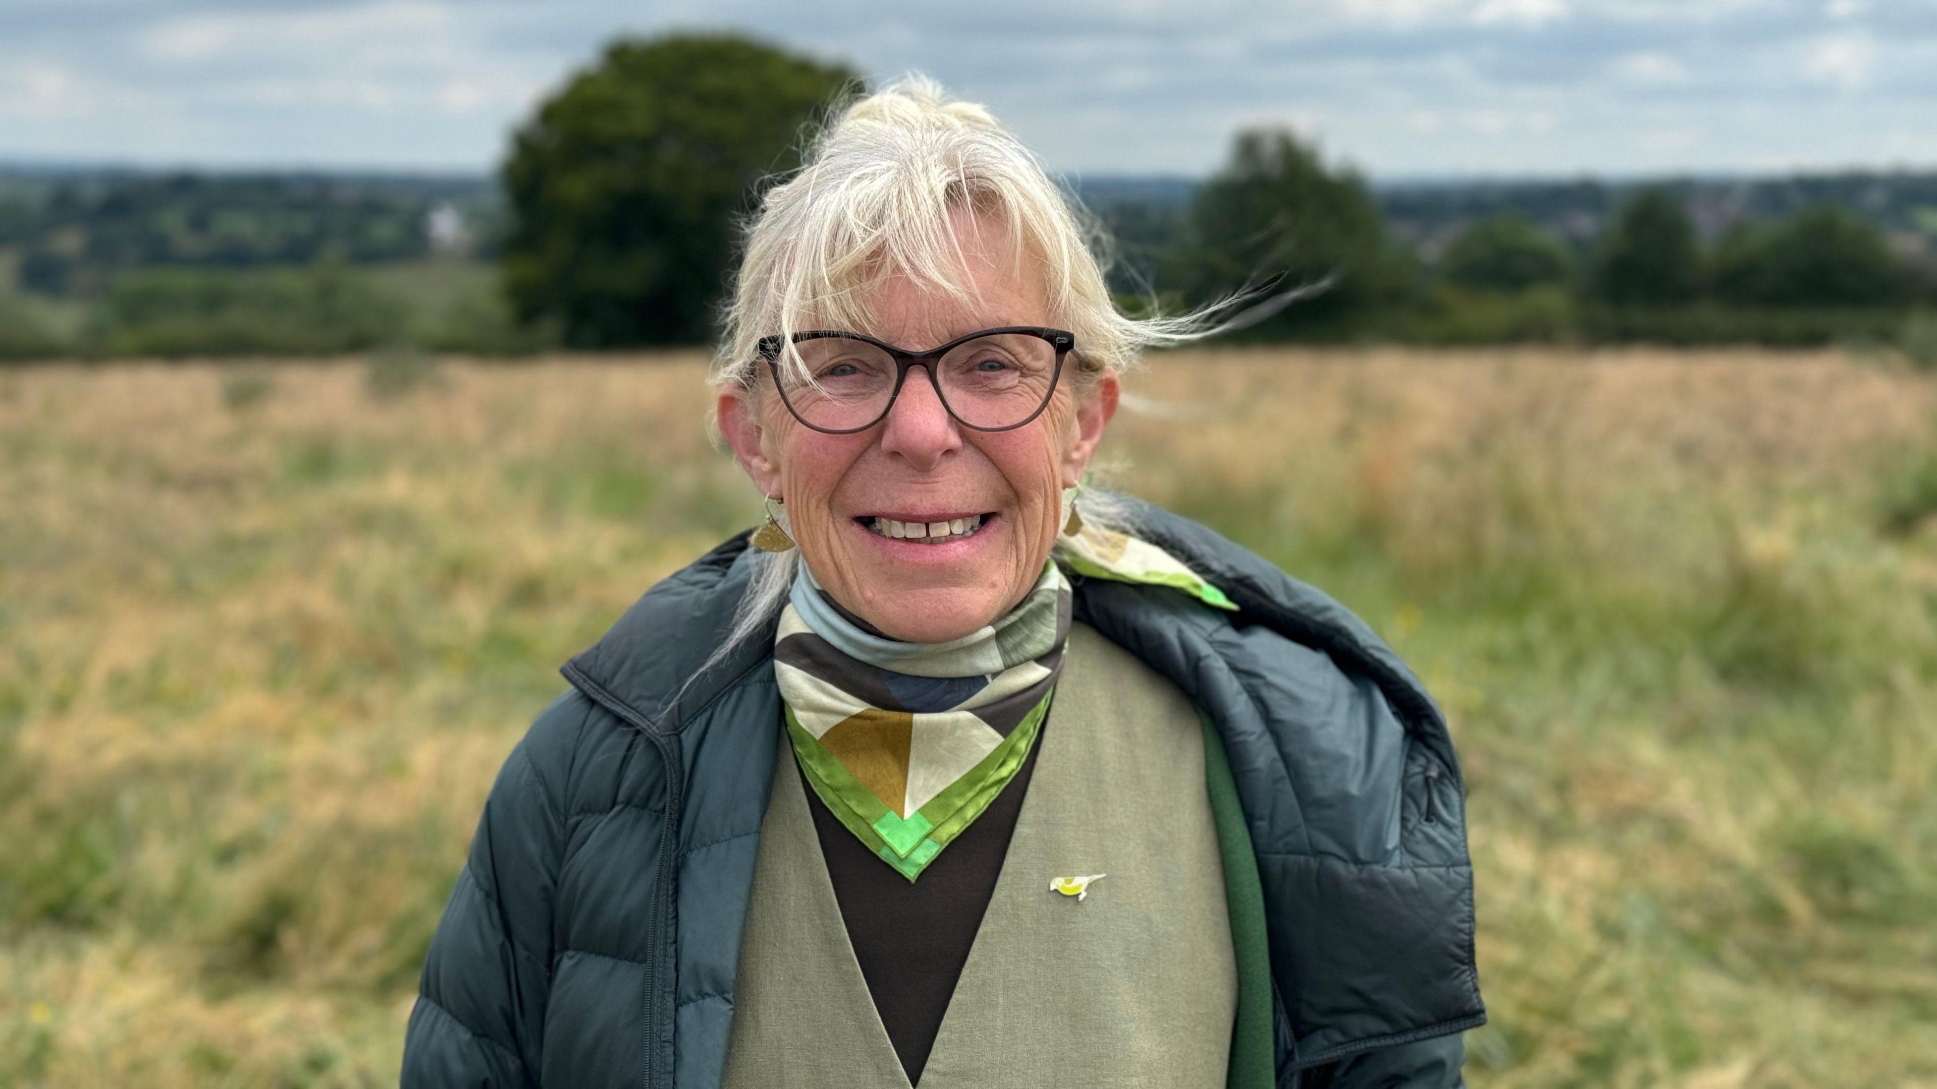
[[[1459,1085],[1459,765],[1410,672],[1081,488],[1139,349],[980,107],[862,99],[750,225],[719,426],[769,519],[564,667],[407,1085]]]

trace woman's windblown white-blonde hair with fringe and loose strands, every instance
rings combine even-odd
[[[715,388],[757,389],[759,341],[769,335],[786,345],[777,362],[792,368],[788,378],[808,380],[792,333],[808,329],[806,322],[870,331],[874,289],[895,273],[972,302],[951,223],[965,209],[994,217],[1019,260],[1042,264],[1050,324],[1075,335],[1079,388],[1104,372],[1135,368],[1149,347],[1245,326],[1290,298],[1253,304],[1261,293],[1240,291],[1182,316],[1164,316],[1154,304],[1145,318],[1123,314],[1104,281],[1110,240],[1096,219],[986,107],[949,97],[926,76],[907,76],[837,109],[802,159],[800,171],[773,184],[744,225],[713,362]],[[1106,492],[1087,488],[1077,506],[1085,521],[1133,529]],[[796,556],[755,556],[734,626],[707,667],[779,614]]]

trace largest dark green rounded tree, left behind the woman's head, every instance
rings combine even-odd
[[[608,47],[517,130],[504,165],[519,318],[556,322],[573,347],[707,339],[736,215],[856,81],[734,35]]]

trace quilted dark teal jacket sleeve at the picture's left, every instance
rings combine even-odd
[[[560,696],[498,771],[424,959],[403,1041],[403,1089],[538,1083],[566,845],[564,773],[589,709],[575,692]]]

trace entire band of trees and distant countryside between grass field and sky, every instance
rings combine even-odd
[[[17,287],[0,279],[0,357],[701,343],[736,225],[858,87],[841,64],[734,35],[622,39],[515,130],[496,186],[0,174],[0,277]],[[1937,234],[1937,178],[1929,207],[1916,180],[1891,200],[1861,178],[1718,192],[1581,182],[1381,198],[1294,134],[1247,130],[1199,184],[1085,196],[1116,236],[1127,308],[1323,285],[1242,333],[1253,341],[1811,345],[1927,329],[1929,258],[1892,248],[1838,198]],[[1774,211],[1716,213],[1751,205]],[[432,264],[434,209],[465,227],[478,273],[384,273]]]

